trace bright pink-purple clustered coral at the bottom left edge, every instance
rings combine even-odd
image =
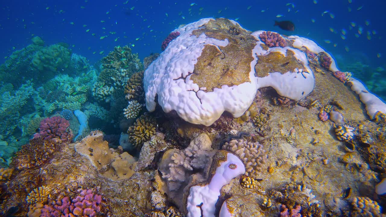
[[[82,190],[70,202],[69,197],[58,200],[54,205],[44,205],[41,217],[92,217],[101,211],[102,196],[94,194],[93,190]]]

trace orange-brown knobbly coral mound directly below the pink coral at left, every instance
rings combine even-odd
[[[54,140],[43,140],[40,137],[31,139],[16,153],[12,160],[12,167],[21,170],[34,168],[45,163],[59,149],[58,142]]]

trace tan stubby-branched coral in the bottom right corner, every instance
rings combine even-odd
[[[376,201],[371,200],[368,197],[353,197],[349,199],[351,203],[351,215],[352,217],[381,217],[381,207]]]

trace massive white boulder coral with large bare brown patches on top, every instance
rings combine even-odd
[[[212,18],[176,31],[180,35],[145,71],[149,111],[155,110],[158,95],[165,112],[175,110],[188,122],[208,126],[224,111],[240,117],[258,88],[272,86],[279,95],[293,100],[313,90],[313,71],[305,53],[291,46],[268,48],[260,40],[263,31],[250,32],[235,21]],[[267,55],[283,63],[259,73],[257,64],[266,62],[260,57]]]

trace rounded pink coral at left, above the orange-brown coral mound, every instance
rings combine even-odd
[[[61,139],[62,142],[71,141],[73,134],[67,130],[70,123],[68,120],[59,116],[49,117],[40,122],[39,132],[34,134],[34,138],[42,139]]]

